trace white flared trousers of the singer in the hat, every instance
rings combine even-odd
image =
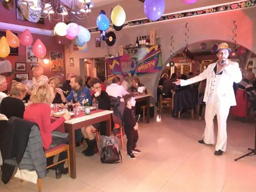
[[[215,146],[216,151],[226,151],[227,145],[227,116],[230,105],[225,102],[220,102],[217,95],[209,95],[205,106],[205,130],[203,139],[206,144],[215,144],[214,134],[214,117],[217,115],[218,121],[218,137]]]

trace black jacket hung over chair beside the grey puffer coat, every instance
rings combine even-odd
[[[7,159],[13,159],[20,163],[28,145],[31,127],[36,123],[18,117],[11,117],[6,126],[0,128],[0,135],[4,135],[1,141],[1,154],[3,158],[2,181],[6,184],[11,179],[15,166],[5,163]]]

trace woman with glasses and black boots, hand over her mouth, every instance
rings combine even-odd
[[[98,106],[99,109],[101,110],[110,110],[110,97],[108,93],[105,91],[101,90],[101,81],[98,78],[93,78],[91,81],[91,88],[94,92],[92,96],[92,100],[97,100],[98,101]],[[93,125],[89,125],[87,127],[82,127],[82,135],[84,140],[87,142],[88,147],[86,150],[82,151],[82,153],[85,156],[93,156],[95,153],[98,153],[98,145],[97,141],[93,135],[93,131],[96,129],[100,130],[101,135],[106,134],[106,123],[105,121],[96,123]]]

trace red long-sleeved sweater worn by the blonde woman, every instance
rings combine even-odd
[[[42,138],[42,146],[46,150],[52,143],[51,132],[55,130],[61,123],[65,121],[64,117],[51,123],[51,108],[46,103],[33,103],[28,105],[24,112],[24,119],[36,122],[39,126]]]

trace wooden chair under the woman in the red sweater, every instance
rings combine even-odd
[[[57,154],[60,154],[61,152],[65,152],[67,151],[67,154],[68,154],[68,158],[67,159],[63,159],[61,161],[58,161],[56,163],[53,163],[49,166],[46,167],[46,169],[54,166],[54,165],[57,165],[59,163],[62,163],[62,162],[65,162],[66,160],[68,160],[68,168],[69,168],[69,176],[70,176],[70,155],[69,155],[69,145],[68,144],[65,144],[65,143],[62,143],[62,144],[59,144],[53,148],[50,148],[49,150],[46,150],[45,153],[46,153],[46,158],[48,157],[52,157],[52,156],[55,156]],[[20,182],[23,182],[23,180],[21,179]],[[37,186],[38,186],[38,191],[41,192],[42,190],[42,186],[41,186],[41,179],[38,178],[37,179]]]

